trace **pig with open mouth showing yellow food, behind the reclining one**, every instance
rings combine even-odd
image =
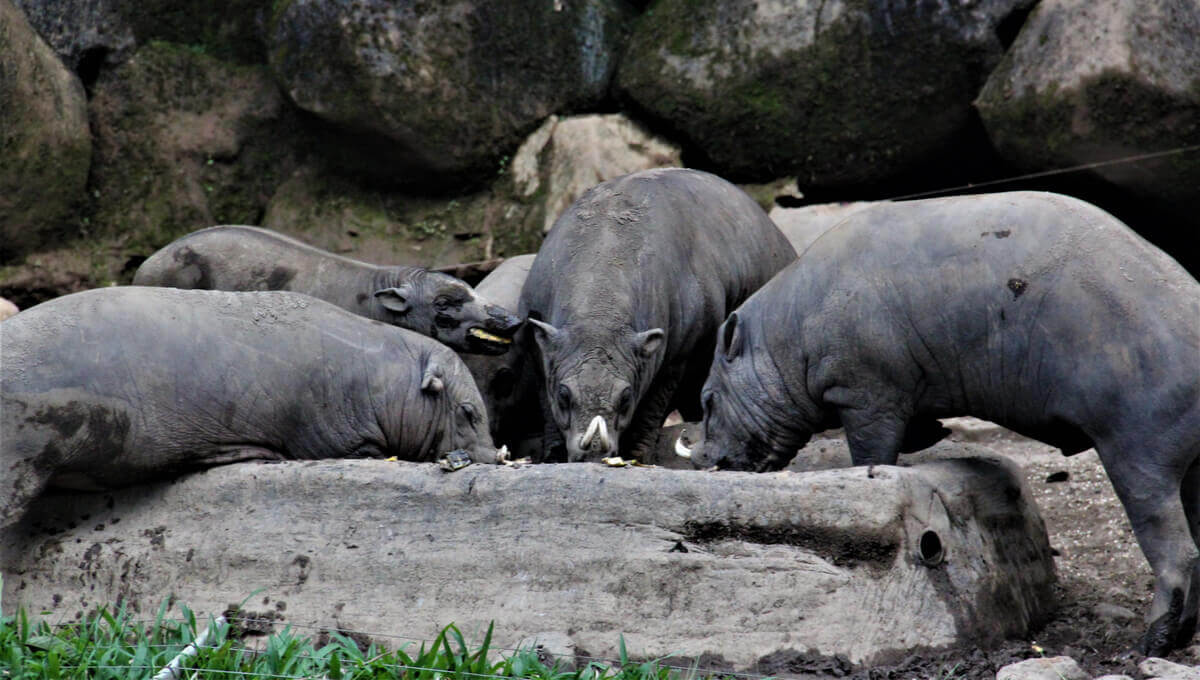
[[[211,227],[182,236],[142,263],[133,283],[304,293],[464,353],[503,354],[521,325],[452,276],[352,260],[258,227]]]

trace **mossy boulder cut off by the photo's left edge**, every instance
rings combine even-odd
[[[90,162],[83,85],[0,0],[0,261],[78,228]]]

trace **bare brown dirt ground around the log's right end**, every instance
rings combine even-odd
[[[984,444],[1025,470],[1056,552],[1058,608],[1030,639],[996,649],[914,654],[895,666],[857,668],[845,660],[784,655],[762,660],[764,674],[800,678],[960,678],[992,680],[1009,663],[1070,656],[1093,678],[1138,672],[1130,651],[1150,608],[1153,577],[1096,451],[1064,457],[1057,449],[1002,429],[952,439]],[[1200,636],[1169,660],[1200,664]]]

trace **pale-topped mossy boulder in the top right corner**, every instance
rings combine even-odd
[[[996,150],[1024,170],[1195,146],[1200,4],[1043,0],[976,106]],[[1091,171],[1195,223],[1200,151]]]

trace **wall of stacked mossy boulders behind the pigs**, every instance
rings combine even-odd
[[[385,263],[532,252],[581,188],[668,164],[767,209],[1062,191],[1200,271],[1190,0],[12,2],[0,295],[22,306],[222,222]]]

